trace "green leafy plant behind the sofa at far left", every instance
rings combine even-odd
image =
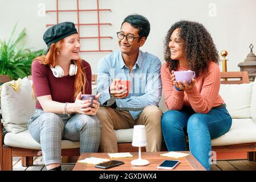
[[[31,75],[32,60],[45,52],[44,49],[31,51],[25,48],[26,28],[15,39],[16,27],[17,24],[14,26],[8,42],[0,40],[0,75],[9,75],[11,80]]]

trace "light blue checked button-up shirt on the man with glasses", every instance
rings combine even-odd
[[[162,92],[160,68],[159,58],[148,52],[139,51],[131,72],[125,65],[120,51],[103,57],[97,68],[97,93],[101,93],[100,104],[111,106],[116,102],[116,109],[129,111],[133,119],[136,119],[146,106],[158,106]],[[128,97],[119,99],[109,94],[109,86],[115,78],[131,81]]]

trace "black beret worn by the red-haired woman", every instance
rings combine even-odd
[[[52,43],[58,42],[72,34],[78,34],[75,24],[72,22],[62,22],[48,28],[43,34],[43,40],[47,45],[46,53],[49,51]]]

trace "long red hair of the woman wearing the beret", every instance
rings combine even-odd
[[[49,65],[49,67],[50,66],[55,67],[57,52],[62,47],[63,42],[64,42],[64,39],[59,40],[56,43],[52,43],[46,55],[36,57],[34,60],[39,60],[40,64]],[[86,74],[83,71],[83,69],[85,68],[82,67],[82,59],[78,59],[74,61],[76,63],[76,66],[78,67],[78,72],[75,75],[75,82],[74,82],[74,101],[75,101],[75,98],[79,94],[79,92],[82,92],[84,94],[86,90],[85,88],[87,84],[87,78],[86,78]]]

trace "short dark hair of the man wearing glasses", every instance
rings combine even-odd
[[[145,18],[143,15],[132,14],[128,15],[124,19],[121,26],[123,26],[125,22],[131,24],[131,26],[134,28],[139,28],[139,36],[145,36],[145,38],[147,39],[150,32],[150,23],[147,18]]]

